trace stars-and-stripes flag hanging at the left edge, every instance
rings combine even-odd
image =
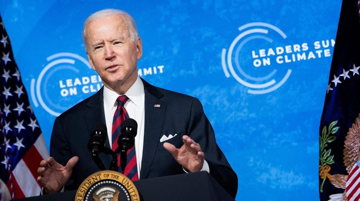
[[[37,168],[49,156],[0,16],[0,200],[40,195]]]

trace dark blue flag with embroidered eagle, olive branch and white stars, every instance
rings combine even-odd
[[[359,200],[359,73],[359,0],[343,0],[320,122],[321,201]]]

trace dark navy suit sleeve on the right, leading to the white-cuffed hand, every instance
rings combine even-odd
[[[191,106],[188,129],[189,136],[200,144],[212,177],[235,198],[238,190],[238,177],[217,145],[214,130],[197,98],[193,100]]]

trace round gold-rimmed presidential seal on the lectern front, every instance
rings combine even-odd
[[[104,170],[87,177],[77,189],[75,201],[139,201],[139,192],[125,175]]]

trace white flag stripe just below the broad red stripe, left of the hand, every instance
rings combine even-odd
[[[23,160],[13,170],[13,177],[26,197],[40,195],[41,188]]]

